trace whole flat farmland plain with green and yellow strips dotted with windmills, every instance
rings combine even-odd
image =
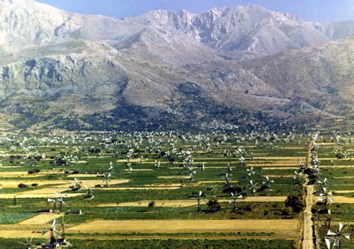
[[[353,151],[314,132],[4,134],[0,248],[326,248],[339,222],[353,248]]]

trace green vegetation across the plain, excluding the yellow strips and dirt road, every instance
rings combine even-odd
[[[23,155],[28,155],[23,151],[19,145],[25,139],[23,135],[13,137],[12,141],[1,139],[0,137],[0,151],[4,151],[3,156],[0,154],[0,164],[2,167],[20,167],[20,168],[1,168],[2,172],[17,172],[21,171],[27,173],[28,170],[39,168],[41,171],[56,168],[63,174],[48,174],[40,175],[36,178],[29,178],[27,175],[21,178],[1,178],[1,183],[6,181],[18,181],[40,183],[41,180],[67,180],[68,183],[74,181],[74,178],[81,180],[98,180],[96,175],[91,175],[89,178],[80,178],[79,174],[96,174],[103,173],[107,169],[110,162],[113,163],[113,180],[127,179],[128,183],[110,184],[110,187],[146,187],[146,186],[181,186],[181,181],[178,178],[161,178],[178,175],[189,175],[184,161],[187,156],[186,152],[190,151],[193,158],[193,170],[196,171],[193,175],[193,182],[186,182],[183,186],[176,190],[157,190],[157,189],[133,189],[133,190],[108,190],[105,188],[95,188],[94,199],[84,199],[81,197],[66,198],[66,205],[64,210],[81,210],[83,214],[70,214],[67,222],[69,226],[76,226],[84,222],[95,220],[174,220],[174,219],[188,219],[188,220],[232,220],[232,219],[299,219],[299,215],[293,213],[289,207],[285,207],[283,202],[239,202],[237,204],[238,210],[232,211],[232,204],[228,202],[220,202],[219,212],[212,211],[206,204],[201,205],[201,212],[197,212],[195,204],[191,207],[99,207],[100,204],[115,204],[123,202],[139,202],[142,200],[191,200],[193,192],[205,192],[207,197],[205,199],[212,199],[212,195],[216,195],[217,199],[232,200],[229,192],[224,192],[223,177],[227,173],[227,163],[231,162],[232,171],[230,178],[235,190],[240,190],[242,195],[250,195],[249,180],[258,183],[258,187],[262,187],[262,181],[266,175],[290,175],[290,177],[271,177],[275,183],[271,185],[271,191],[258,189],[256,195],[258,196],[287,196],[287,195],[302,195],[302,187],[294,184],[292,178],[295,169],[289,167],[297,167],[299,161],[297,157],[304,158],[306,156],[305,145],[308,138],[299,134],[294,135],[294,139],[285,142],[287,137],[279,134],[280,139],[276,141],[275,138],[258,136],[259,146],[255,146],[255,139],[246,137],[241,134],[228,135],[227,141],[224,141],[222,134],[178,134],[175,137],[169,135],[155,135],[152,141],[149,134],[107,134],[107,133],[91,133],[91,134],[75,134],[72,136],[57,136],[51,139],[57,142],[51,142],[49,138],[43,139],[40,136],[27,136],[25,141],[26,146],[33,146],[30,151],[38,154],[45,154],[46,159],[42,158],[23,158]],[[184,136],[185,138],[183,138]],[[91,139],[85,139],[91,137]],[[106,143],[106,137],[113,137],[116,143]],[[244,137],[244,140],[241,139]],[[199,139],[199,140],[198,140]],[[329,140],[329,137],[325,137]],[[321,139],[320,141],[321,142]],[[211,144],[211,150],[207,151],[206,144]],[[277,149],[272,149],[271,144],[277,144]],[[16,151],[11,151],[11,146],[16,146]],[[147,152],[146,147],[149,147],[150,152]],[[333,158],[332,145],[319,149],[320,166],[328,166],[329,159],[321,160],[321,158]],[[333,146],[337,146],[333,144]],[[139,163],[139,160],[132,162],[133,169],[149,169],[149,170],[126,170],[125,161],[127,161],[127,151],[130,148],[135,150],[132,158],[144,157],[144,161]],[[297,148],[297,149],[295,149]],[[227,149],[229,154],[225,154]],[[346,145],[348,151],[354,150],[354,144]],[[172,153],[172,151],[174,152]],[[237,154],[236,151],[243,151]],[[162,153],[164,152],[164,153]],[[246,166],[242,166],[239,158],[241,154],[246,159]],[[60,155],[77,156],[77,160],[86,161],[86,163],[70,163],[63,166],[54,166],[55,158]],[[253,155],[253,158],[252,158]],[[119,163],[117,162],[118,160]],[[69,161],[69,160],[67,160]],[[161,167],[154,168],[155,161],[160,161]],[[205,164],[205,170],[198,168],[202,163]],[[336,160],[336,166],[350,166],[354,165],[353,161]],[[35,166],[31,166],[35,164]],[[0,166],[0,167],[1,167]],[[254,175],[250,176],[249,171],[253,166]],[[282,169],[265,170],[264,166],[281,167]],[[321,168],[321,178],[328,178],[331,185],[329,190],[354,190],[354,178],[343,179],[341,177],[354,176],[354,168],[337,168],[334,170],[328,168]],[[289,169],[287,169],[289,168]],[[220,183],[220,181],[222,181]],[[205,182],[205,183],[201,183]],[[207,183],[210,182],[210,183]],[[214,183],[215,182],[215,183]],[[103,181],[102,181],[103,183]],[[199,184],[201,183],[201,184]],[[6,188],[0,190],[1,194],[16,194],[21,195],[21,192],[28,192],[31,190],[43,190],[49,188],[54,192],[57,185],[54,183],[47,185],[39,185],[38,187],[28,187],[20,190],[18,187]],[[211,187],[216,187],[216,190],[210,192]],[[71,190],[67,191],[68,193]],[[84,186],[79,193],[86,194]],[[353,196],[354,193],[340,194],[343,196]],[[17,199],[16,206],[13,206],[13,198],[1,199],[0,202],[0,224],[17,224],[23,219],[28,219],[33,216],[40,209],[52,209],[52,203],[48,203],[45,198],[29,198]],[[354,221],[354,209],[350,204],[336,204],[331,206],[333,217],[341,218],[343,221]],[[49,222],[50,223],[50,222]],[[48,223],[48,224],[49,224]],[[14,225],[16,226],[16,225]],[[48,225],[49,226],[49,225]],[[47,225],[43,227],[47,228]],[[217,235],[222,234],[218,233]],[[158,233],[150,234],[153,236],[161,236]],[[204,240],[203,238],[212,238],[214,233],[179,233],[174,240],[152,240],[144,239],[147,234],[136,233],[132,236],[140,236],[139,241],[130,240],[116,240],[115,237],[125,236],[122,233],[103,233],[101,237],[104,241],[100,241],[100,236],[90,233],[68,233],[69,241],[74,244],[73,248],[295,248],[296,242],[292,239],[279,241],[274,238],[272,233],[224,233],[225,240]],[[78,236],[85,237],[86,240],[78,240]],[[165,234],[166,237],[172,236]],[[188,237],[184,239],[183,237]],[[253,240],[254,236],[262,237]],[[94,237],[94,238],[91,238]],[[230,238],[232,237],[232,238]],[[244,239],[245,237],[245,239]],[[249,239],[246,239],[249,237]],[[263,237],[266,237],[263,238]],[[173,237],[174,238],[174,237]],[[182,239],[183,238],[183,239]],[[191,239],[193,238],[193,239]],[[3,239],[6,248],[16,248],[16,245],[9,245],[13,240]],[[0,240],[0,248],[3,245]],[[11,247],[12,246],[12,247]],[[113,247],[114,246],[114,247]],[[344,248],[346,245],[343,245]],[[19,247],[17,247],[19,248]]]

